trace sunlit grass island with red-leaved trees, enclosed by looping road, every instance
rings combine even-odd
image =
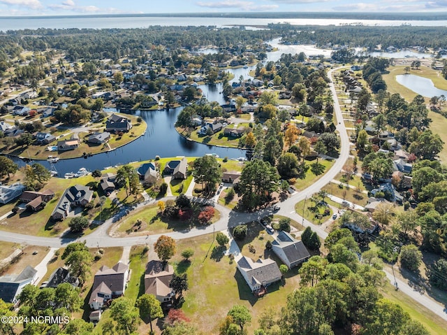
[[[200,211],[200,207],[196,207],[193,210],[195,213]],[[216,222],[220,219],[220,213],[216,209],[214,209],[215,214],[214,218],[212,218],[211,222]],[[161,218],[159,215],[159,207],[156,205],[145,206],[140,210],[129,215],[128,218],[119,222],[117,226],[112,228],[113,234],[116,236],[127,236],[129,234],[132,235],[143,235],[143,234],[162,234],[170,231],[184,231],[187,229],[191,229],[191,227],[198,226],[202,227],[202,225],[195,220],[193,221],[182,221],[182,220],[174,220]],[[196,215],[193,215],[196,217]],[[142,224],[140,229],[134,231],[134,226],[137,220],[142,220]],[[136,229],[136,227],[135,227]]]

